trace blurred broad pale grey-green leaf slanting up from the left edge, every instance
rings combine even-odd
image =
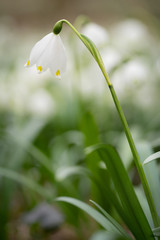
[[[19,169],[27,154],[26,150],[29,149],[30,144],[39,134],[44,124],[44,120],[33,118],[22,126],[11,125],[5,133],[5,142],[9,144],[9,147],[4,155],[4,163],[2,162],[1,165],[15,170]],[[6,157],[8,161],[5,161]]]

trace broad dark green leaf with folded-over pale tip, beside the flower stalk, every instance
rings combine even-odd
[[[115,148],[105,144],[97,144],[87,148],[88,153],[94,151],[98,152],[110,172],[124,211],[128,213],[127,225],[135,238],[137,240],[154,239],[148,220],[137,199],[123,162]]]

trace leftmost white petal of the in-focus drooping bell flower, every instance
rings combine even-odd
[[[49,33],[34,45],[30,53],[29,66],[32,66],[37,63],[38,59],[41,57],[47,45],[51,41],[52,36],[53,36],[53,33]]]

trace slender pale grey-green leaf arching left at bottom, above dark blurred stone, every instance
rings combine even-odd
[[[104,229],[122,235],[119,229],[117,229],[107,218],[105,218],[101,213],[99,213],[97,210],[95,210],[88,204],[70,197],[59,197],[56,198],[56,201],[67,202],[82,209],[83,211],[88,213],[93,219],[95,219]]]

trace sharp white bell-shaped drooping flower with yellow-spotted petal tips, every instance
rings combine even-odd
[[[66,54],[59,35],[49,33],[34,45],[25,67],[35,64],[39,73],[50,69],[57,77],[66,70]]]

